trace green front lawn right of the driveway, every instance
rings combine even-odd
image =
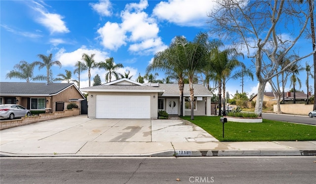
[[[316,126],[296,123],[286,123],[263,119],[262,123],[239,123],[227,122],[224,125],[225,135],[223,138],[223,123],[219,116],[195,116],[191,120],[189,116],[182,117],[219,141],[315,141]]]

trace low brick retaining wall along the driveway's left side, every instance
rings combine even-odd
[[[53,113],[42,113],[36,116],[28,116],[22,117],[21,119],[13,119],[13,120],[1,120],[0,121],[0,130],[12,128],[16,126],[27,125],[31,123],[36,123],[40,121],[46,121],[50,119],[58,119],[62,117],[69,117],[80,115],[79,109],[72,109],[72,110],[64,110],[64,111],[55,111]]]

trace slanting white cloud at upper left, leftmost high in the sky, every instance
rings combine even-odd
[[[47,12],[46,8],[39,2],[32,1],[35,6],[32,8],[40,14],[36,18],[36,21],[46,27],[51,34],[53,33],[69,33],[69,29],[66,27],[65,22],[62,20],[64,17],[56,14]]]

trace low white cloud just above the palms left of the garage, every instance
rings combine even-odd
[[[85,46],[81,46],[81,48],[73,51],[66,52],[64,48],[61,48],[55,55],[55,58],[61,62],[62,66],[75,66],[78,61],[82,61],[82,54],[86,53],[88,55],[95,54],[94,60],[95,62],[104,61],[106,58],[109,58],[108,53],[97,50],[97,49],[87,49]]]

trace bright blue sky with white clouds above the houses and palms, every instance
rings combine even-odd
[[[198,32],[208,32],[207,12],[213,7],[211,0],[1,0],[0,1],[0,80],[21,60],[29,63],[40,61],[38,54],[52,53],[62,68],[52,67],[52,72],[64,74],[73,71],[82,53],[95,53],[95,61],[113,57],[123,64],[118,72],[130,71],[132,79],[145,74],[146,67],[156,52],[165,49],[175,36],[192,40]],[[229,40],[225,41],[229,44]],[[304,41],[303,41],[304,43]],[[310,45],[302,44],[312,50]],[[301,48],[302,49],[302,48]],[[246,58],[246,57],[245,57]],[[251,62],[240,58],[249,68]],[[310,61],[312,57],[302,61]],[[35,75],[46,74],[45,69],[35,68]],[[99,74],[105,82],[105,71]],[[158,79],[163,78],[159,73]],[[73,74],[74,79],[78,79]],[[306,92],[305,72],[301,72],[302,89]],[[312,85],[312,80],[311,84]],[[230,80],[227,91],[241,92],[241,80]],[[257,93],[258,81],[244,78],[244,91]],[[80,88],[88,86],[87,72],[80,74]],[[289,83],[286,90],[289,89]],[[271,91],[269,86],[266,91]]]

